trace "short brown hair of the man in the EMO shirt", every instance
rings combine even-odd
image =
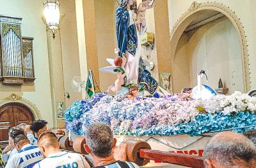
[[[43,132],[38,138],[38,144],[44,143],[47,147],[57,147],[59,145],[58,138],[53,132]]]

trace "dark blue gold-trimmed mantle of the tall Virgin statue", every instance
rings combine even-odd
[[[136,25],[132,24],[129,26],[129,11],[125,8],[117,8],[116,10],[116,37],[118,48],[122,53],[118,53],[118,56],[122,57],[126,51],[132,55],[136,54],[138,47],[138,36]],[[145,90],[150,94],[154,94],[157,89],[157,81],[151,76],[150,72],[147,71],[143,60],[140,57],[140,63],[138,67],[138,83],[145,85]]]

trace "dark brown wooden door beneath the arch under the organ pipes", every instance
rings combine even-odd
[[[8,144],[9,129],[20,123],[31,124],[34,121],[30,109],[19,103],[8,103],[0,107],[0,148]]]

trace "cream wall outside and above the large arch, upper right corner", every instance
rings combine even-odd
[[[169,8],[169,24],[170,30],[172,30],[173,25],[177,22],[177,20],[182,17],[182,14],[185,13],[189,6],[195,0],[168,0],[168,8]],[[197,3],[207,2],[208,0],[196,0]],[[217,3],[223,3],[232,11],[236,12],[236,15],[241,18],[241,23],[244,26],[244,31],[247,36],[248,43],[248,53],[250,54],[250,77],[251,77],[251,87],[256,88],[256,74],[253,73],[256,71],[256,13],[255,13],[255,0],[216,0]],[[179,10],[178,10],[179,9]]]

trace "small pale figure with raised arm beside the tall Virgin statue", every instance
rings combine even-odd
[[[150,4],[152,2],[152,4]],[[146,10],[154,8],[156,0],[142,0],[142,3],[138,6],[136,25],[138,31],[143,34],[146,31]],[[139,23],[138,23],[139,22]]]

